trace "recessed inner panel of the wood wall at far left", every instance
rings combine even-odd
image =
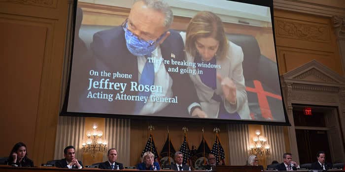
[[[33,151],[46,32],[46,27],[0,18],[0,37],[10,40],[0,42],[0,89],[6,90],[0,99],[0,135],[7,140],[1,155],[17,142]]]

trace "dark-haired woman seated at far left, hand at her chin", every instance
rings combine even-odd
[[[7,164],[16,167],[34,167],[34,162],[28,158],[26,145],[22,142],[13,146]]]

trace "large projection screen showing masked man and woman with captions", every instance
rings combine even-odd
[[[289,125],[272,0],[164,2],[169,28],[141,1],[74,1],[61,115]]]

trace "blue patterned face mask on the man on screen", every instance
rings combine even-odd
[[[161,41],[164,37],[162,34],[156,41],[138,38],[133,32],[127,29],[127,23],[122,27],[125,31],[125,39],[128,51],[130,51],[134,56],[151,56],[151,53],[156,49],[157,42]]]

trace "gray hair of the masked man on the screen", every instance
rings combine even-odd
[[[173,11],[167,2],[162,0],[136,0],[135,2],[138,1],[142,1],[147,7],[163,13],[165,15],[163,26],[167,29],[170,28],[173,23]]]

